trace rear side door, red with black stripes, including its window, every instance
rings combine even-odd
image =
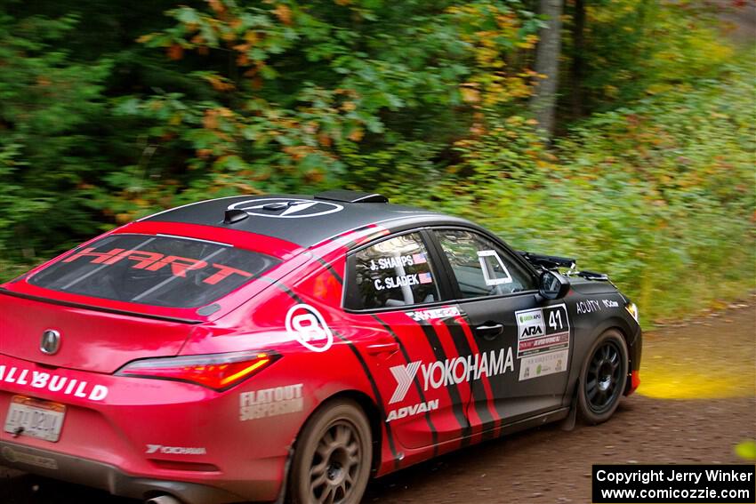
[[[373,335],[359,349],[382,400],[390,436],[422,448],[467,436],[470,387],[447,380],[446,366],[465,350],[446,322],[459,309],[421,231],[390,236],[347,259],[344,309],[350,324]]]

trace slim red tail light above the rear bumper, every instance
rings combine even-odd
[[[134,378],[186,381],[222,391],[261,372],[279,358],[279,355],[271,352],[159,357],[133,361],[116,374]]]

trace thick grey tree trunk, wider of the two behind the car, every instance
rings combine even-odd
[[[535,71],[545,77],[539,79],[535,86],[531,106],[538,124],[550,137],[554,133],[557,108],[563,5],[564,0],[540,0],[541,14],[548,20],[546,26],[541,29],[540,40],[535,50]]]

